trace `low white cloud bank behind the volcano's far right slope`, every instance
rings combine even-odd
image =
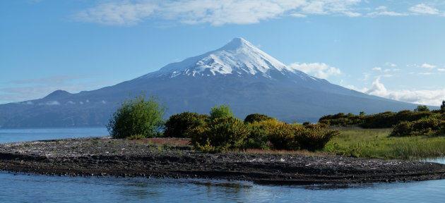
[[[357,90],[367,94],[397,101],[405,101],[415,104],[439,106],[445,99],[445,89],[442,90],[387,90],[380,82],[381,77],[376,78],[369,89],[358,89],[352,85],[346,86],[352,90]]]

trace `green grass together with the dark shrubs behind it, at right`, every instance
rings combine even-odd
[[[348,126],[336,127],[341,133],[326,144],[324,152],[387,159],[445,156],[445,101],[440,110],[417,106],[415,111],[369,116],[338,113],[324,116],[320,122]]]

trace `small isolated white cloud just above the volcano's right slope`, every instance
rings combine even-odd
[[[292,63],[289,66],[307,74],[314,74],[316,78],[322,79],[341,73],[340,69],[328,66],[326,63]]]

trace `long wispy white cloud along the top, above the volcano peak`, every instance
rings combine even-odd
[[[361,16],[353,6],[360,0],[190,0],[190,1],[105,1],[86,8],[74,19],[104,25],[136,25],[148,18],[178,20],[184,24],[252,24],[261,20],[307,15]],[[291,14],[290,14],[291,13]]]

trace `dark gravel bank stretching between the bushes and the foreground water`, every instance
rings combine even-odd
[[[0,170],[59,176],[226,178],[256,183],[367,183],[445,178],[445,165],[345,156],[202,154],[90,137],[0,144]]]

